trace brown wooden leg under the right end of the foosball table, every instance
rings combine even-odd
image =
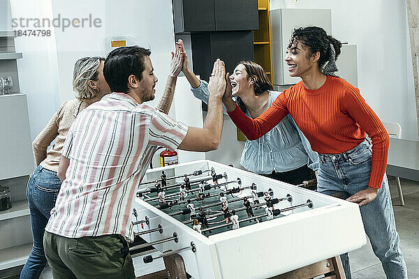
[[[323,279],[346,279],[340,256],[325,259],[270,279],[311,279],[321,275],[325,276]]]

